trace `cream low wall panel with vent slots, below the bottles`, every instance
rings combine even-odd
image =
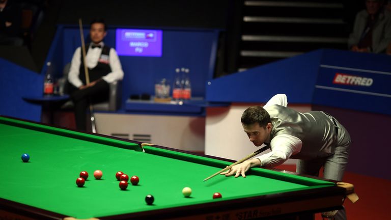
[[[205,117],[96,113],[97,132],[156,145],[203,152]],[[136,136],[134,136],[136,135]],[[139,141],[139,140],[136,140]]]

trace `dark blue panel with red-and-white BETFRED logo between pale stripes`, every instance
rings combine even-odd
[[[389,85],[388,71],[320,65],[313,103],[390,115]]]

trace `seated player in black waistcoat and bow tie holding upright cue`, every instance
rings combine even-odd
[[[124,76],[122,66],[114,48],[103,43],[106,36],[106,24],[103,19],[91,22],[91,43],[86,45],[86,63],[90,83],[86,83],[81,47],[73,54],[68,81],[69,94],[75,104],[75,120],[78,130],[86,130],[86,110],[92,103],[108,100],[109,83],[121,80]]]

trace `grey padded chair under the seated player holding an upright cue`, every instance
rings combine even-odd
[[[58,80],[59,83],[59,92],[66,92],[66,84],[68,83],[68,73],[70,70],[71,64],[68,63],[65,65],[63,70],[63,77]],[[115,112],[121,106],[121,94],[122,94],[122,81],[115,81],[109,84],[109,96],[108,101],[96,103],[93,105],[94,111],[108,111]],[[73,108],[74,104],[72,100],[67,101],[62,109]]]

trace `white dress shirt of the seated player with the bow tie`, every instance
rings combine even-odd
[[[103,42],[100,42],[101,48],[95,47],[94,49],[91,47],[86,54],[86,63],[89,69],[93,69],[98,65],[99,57],[102,53],[102,48],[104,46]],[[110,48],[109,52],[109,65],[111,68],[111,72],[107,75],[103,76],[102,79],[107,83],[114,82],[117,80],[121,80],[124,77],[124,72],[122,70],[120,59],[118,58],[117,52],[114,48]],[[73,58],[71,62],[71,67],[68,74],[68,80],[75,87],[79,88],[83,85],[83,82],[79,78],[79,70],[81,64],[81,47],[78,47],[73,53]]]

